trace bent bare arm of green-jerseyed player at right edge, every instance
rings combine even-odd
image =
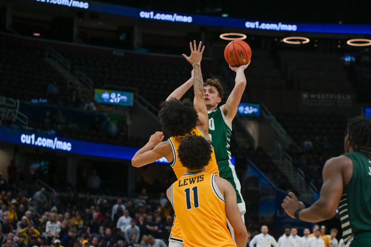
[[[322,172],[324,183],[319,199],[311,207],[304,209],[303,202],[300,202],[293,192],[289,192],[283,200],[282,207],[292,218],[294,218],[295,211],[302,208],[299,218],[307,222],[331,219],[336,214],[343,188],[350,181],[352,172],[353,164],[348,157],[342,155],[329,159]]]

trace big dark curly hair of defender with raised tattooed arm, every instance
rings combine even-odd
[[[198,114],[189,99],[178,101],[171,99],[162,102],[158,118],[162,130],[170,136],[181,136],[191,132],[196,127]]]

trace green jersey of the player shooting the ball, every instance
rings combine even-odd
[[[231,157],[230,141],[232,128],[220,108],[209,111],[209,135],[213,142],[216,162],[228,161]]]

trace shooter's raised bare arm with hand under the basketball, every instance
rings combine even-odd
[[[237,114],[237,108],[239,103],[241,102],[241,98],[246,87],[246,77],[244,74],[244,69],[246,69],[247,66],[250,65],[250,62],[247,63],[246,65],[241,65],[239,67],[229,66],[230,69],[236,72],[236,79],[234,79],[234,82],[236,84],[234,85],[234,88],[230,93],[227,102],[224,105],[222,105],[220,109],[223,111],[224,116],[226,116],[226,119],[231,126],[233,118]]]

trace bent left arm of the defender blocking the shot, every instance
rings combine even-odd
[[[146,147],[148,143],[134,155],[131,159],[131,164],[134,167],[142,167],[144,165],[151,164],[162,157],[166,159],[170,158],[170,155],[173,155],[173,150],[171,149],[171,145],[168,141],[161,142],[160,144],[156,145],[152,150],[143,151],[143,149],[151,149],[151,147]]]

